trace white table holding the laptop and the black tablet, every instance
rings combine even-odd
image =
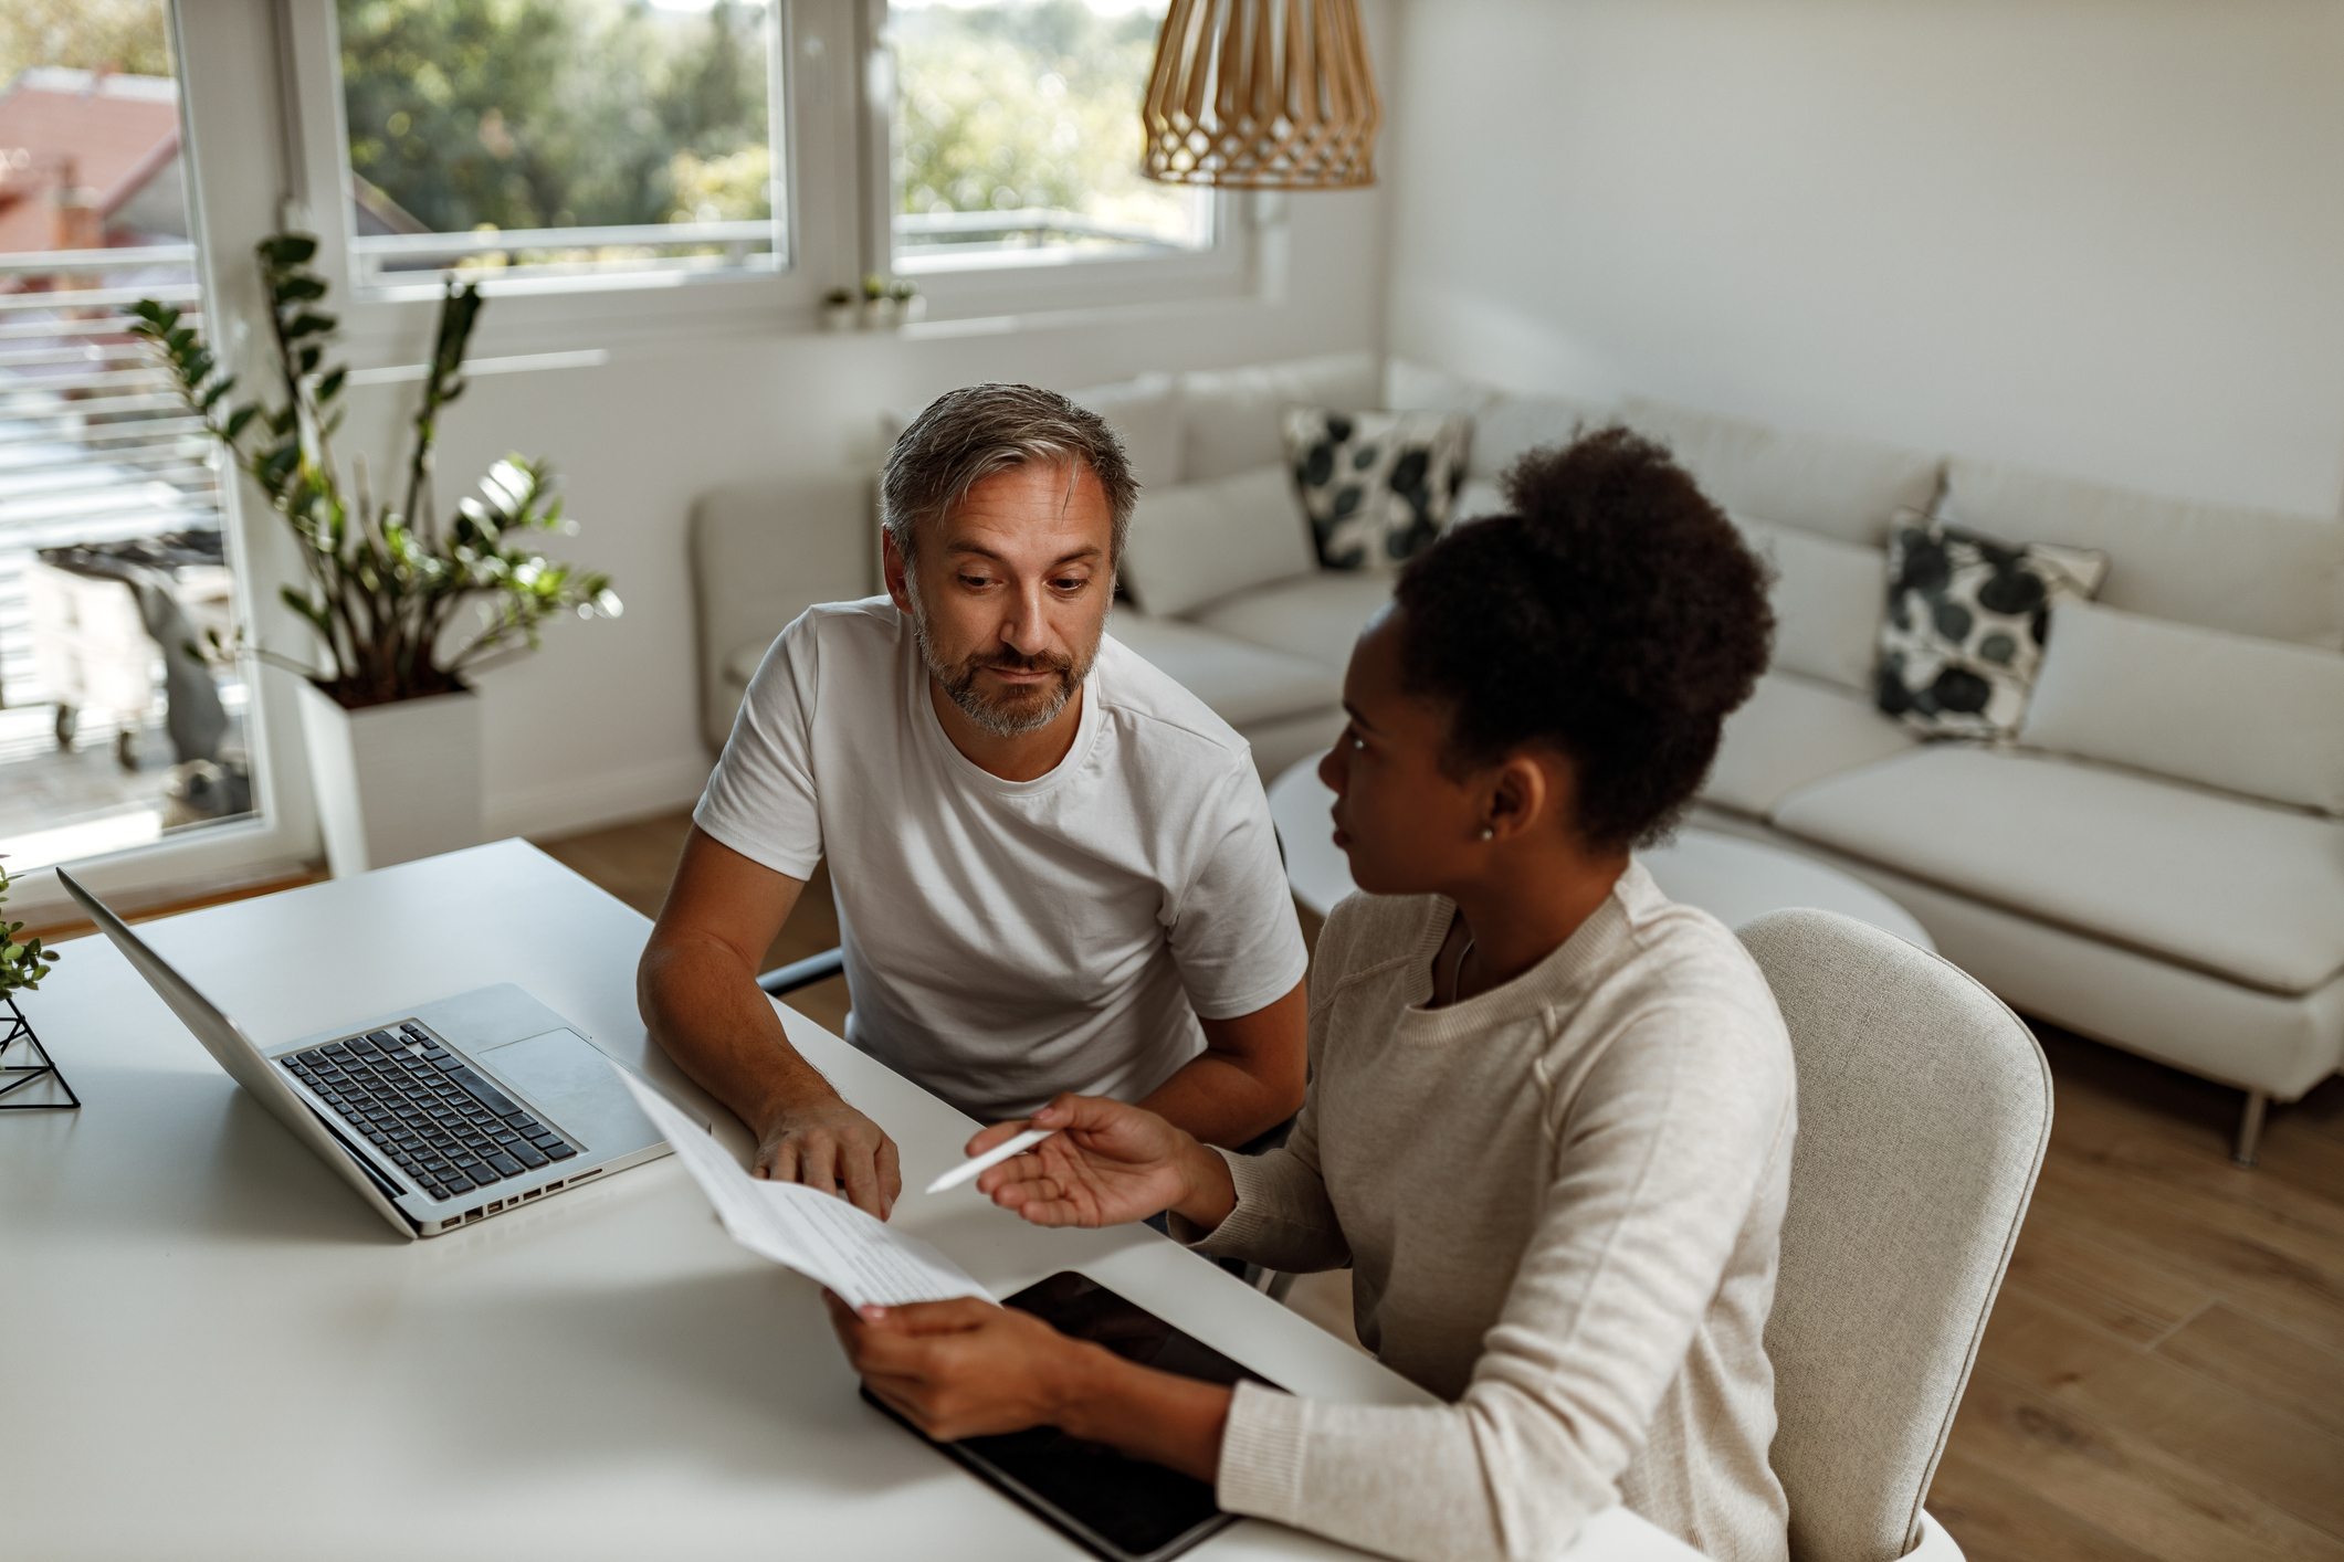
[[[143,932],[263,1044],[518,981],[689,1091],[635,1016],[647,927],[504,841]],[[863,1405],[816,1288],[736,1248],[673,1159],[403,1244],[113,946],[63,953],[26,1012],[87,1105],[0,1115],[0,1553],[1085,1555]],[[907,1187],[959,1159],[966,1117],[783,1019]],[[1299,1393],[1425,1400],[1149,1229],[1041,1232],[966,1190],[895,1222],[996,1295],[1083,1269]],[[1198,1555],[1355,1553],[1245,1522]],[[1613,1508],[1570,1557],[1697,1553]]]

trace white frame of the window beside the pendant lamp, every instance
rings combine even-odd
[[[1212,192],[1212,244],[1179,255],[1083,255],[970,267],[895,269],[895,56],[888,0],[860,0],[863,272],[902,276],[933,321],[1069,314],[1127,304],[1242,300],[1261,293],[1254,204]]]

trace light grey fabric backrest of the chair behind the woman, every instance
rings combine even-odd
[[[1976,979],[1833,911],[1742,927],[1798,1061],[1765,1349],[1796,1562],[1920,1536],[2051,1136],[2051,1068]]]

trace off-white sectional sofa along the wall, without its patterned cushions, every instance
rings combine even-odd
[[[1500,391],[1369,354],[1074,396],[1118,426],[1146,485],[1111,632],[1228,719],[1263,780],[1334,740],[1350,644],[1392,583],[1315,567],[1282,407],[1472,415],[1453,520],[1498,508],[1493,480],[1524,450],[1627,422],[1779,571],[1774,665],[1728,721],[1697,824],[1873,883],[2028,1014],[2248,1091],[2241,1159],[2269,1101],[2344,1063],[2344,525],[1655,400]],[[804,503],[703,499],[713,745],[795,611],[870,590],[867,520],[860,560],[837,539],[809,553],[781,529]],[[825,518],[846,503],[820,496]],[[2112,560],[2098,607],[2053,616],[2013,747],[1922,742],[1873,705],[1885,543],[1915,513]]]

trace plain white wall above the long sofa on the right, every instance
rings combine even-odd
[[[2332,0],[1413,0],[1392,351],[2335,513]]]

